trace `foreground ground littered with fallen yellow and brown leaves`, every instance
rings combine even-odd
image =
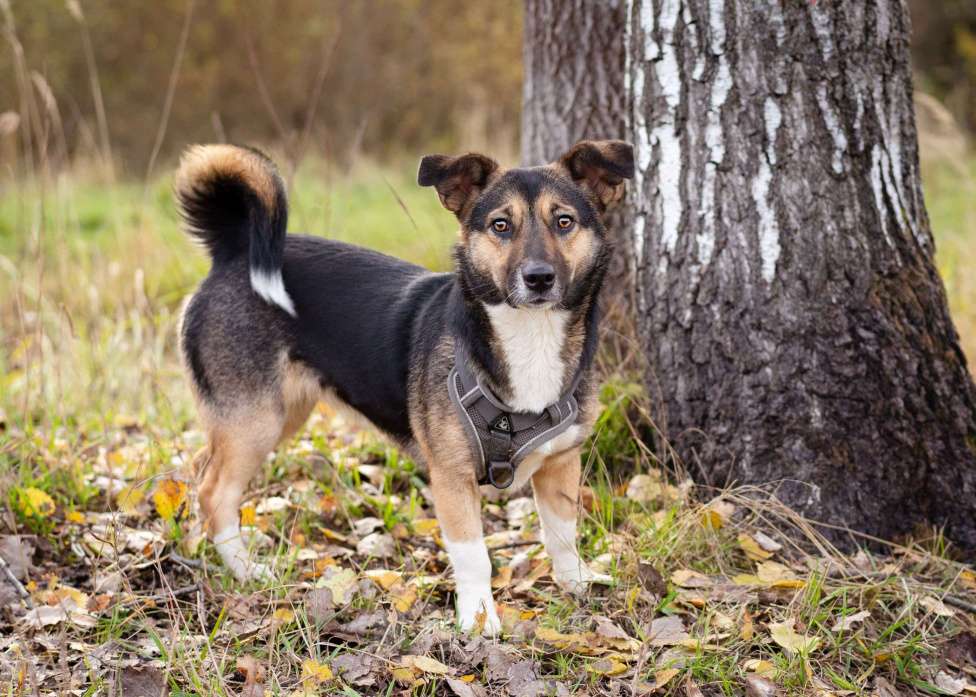
[[[486,501],[499,639],[454,627],[424,473],[325,409],[241,510],[276,571],[246,587],[194,515],[202,434],[8,425],[6,457],[56,466],[7,495],[3,694],[976,693],[971,568],[932,542],[844,556],[762,492],[702,502],[650,464],[618,481],[605,397],[581,544],[614,583],[563,594],[530,492]]]

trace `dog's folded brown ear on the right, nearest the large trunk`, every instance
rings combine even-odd
[[[634,176],[634,146],[622,140],[582,140],[559,158],[558,165],[605,212],[623,198],[623,180]]]

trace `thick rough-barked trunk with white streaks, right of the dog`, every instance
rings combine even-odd
[[[944,526],[971,555],[976,388],[933,265],[905,5],[627,13],[631,254],[663,432],[701,481],[777,482],[801,513],[885,538]]]

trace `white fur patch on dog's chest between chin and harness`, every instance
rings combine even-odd
[[[485,305],[485,310],[508,369],[509,406],[538,412],[556,402],[566,374],[562,353],[569,313],[504,303]]]

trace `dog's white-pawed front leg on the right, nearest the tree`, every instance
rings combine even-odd
[[[552,559],[552,575],[563,588],[579,593],[590,583],[610,581],[588,567],[576,548],[579,513],[580,451],[573,448],[546,458],[532,475],[542,541]]]

